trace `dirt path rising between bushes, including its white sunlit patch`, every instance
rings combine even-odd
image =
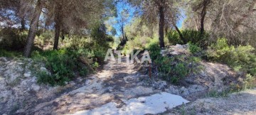
[[[85,86],[57,99],[36,105],[30,114],[157,114],[188,102],[152,87],[145,87],[137,67],[110,61]],[[157,107],[157,109],[155,109]]]

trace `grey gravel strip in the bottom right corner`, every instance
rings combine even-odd
[[[198,99],[166,111],[169,114],[256,114],[256,89],[229,94],[228,97]]]

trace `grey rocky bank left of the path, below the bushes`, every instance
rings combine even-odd
[[[70,84],[65,87],[38,84],[31,68],[40,70],[40,67],[45,68],[31,59],[0,57],[0,114],[26,112],[31,106],[47,101],[71,87]]]

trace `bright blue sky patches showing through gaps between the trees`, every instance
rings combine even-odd
[[[129,12],[129,18],[127,20],[127,22],[125,24],[128,24],[128,23],[132,23],[132,19],[135,18],[134,17],[134,11],[136,9],[134,9],[132,6],[130,6],[129,4],[125,4],[124,2],[118,2],[117,3],[117,17],[115,18],[112,18],[112,20],[116,23],[113,24],[113,27],[116,29],[117,31],[117,35],[116,36],[119,36],[121,35],[121,31],[120,31],[120,23],[117,23],[120,19],[121,19],[121,16],[119,15],[124,9],[127,9],[127,11]],[[181,11],[183,12],[183,11]],[[182,13],[182,16],[181,18],[179,19],[179,21],[177,22],[177,26],[178,28],[181,28],[182,26],[182,23],[185,19],[185,15]]]

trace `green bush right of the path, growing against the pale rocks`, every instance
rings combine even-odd
[[[189,57],[186,55],[163,57],[160,54],[161,49],[157,43],[152,43],[146,50],[149,50],[151,59],[160,72],[159,75],[168,82],[179,84],[189,73],[200,70],[200,66],[197,64],[201,61],[200,57],[192,55]],[[197,51],[196,49],[195,53]]]

